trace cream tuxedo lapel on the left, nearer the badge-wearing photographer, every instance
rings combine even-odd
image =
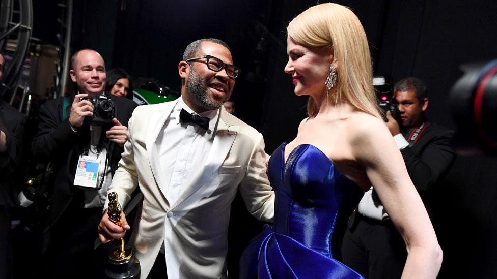
[[[154,175],[155,181],[159,186],[160,191],[165,194],[165,180],[163,176],[163,171],[160,167],[160,160],[158,158],[158,149],[155,144],[159,133],[162,131],[164,123],[169,119],[171,111],[178,102],[176,101],[164,103],[161,107],[155,110],[149,118],[149,125],[147,129],[147,137],[145,139],[145,146],[147,148],[148,160],[150,163],[150,168],[152,169],[152,174]]]

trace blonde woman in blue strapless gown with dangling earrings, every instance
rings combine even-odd
[[[371,185],[402,235],[404,278],[435,278],[442,252],[376,105],[364,29],[346,7],[309,8],[287,28],[285,72],[309,96],[297,137],[268,164],[274,225],[244,252],[242,278],[362,278],[340,262],[347,217]]]

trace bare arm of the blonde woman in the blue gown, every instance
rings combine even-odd
[[[379,119],[361,116],[353,122],[349,134],[353,156],[366,171],[407,247],[402,278],[435,278],[442,252],[400,151]]]

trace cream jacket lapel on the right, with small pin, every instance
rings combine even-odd
[[[221,113],[228,113],[224,109],[222,109]],[[209,151],[209,155],[204,165],[204,169],[198,171],[196,174],[192,176],[191,179],[188,180],[185,190],[181,193],[178,199],[175,201],[171,209],[174,209],[176,206],[183,203],[186,199],[189,198],[188,204],[197,203],[202,197],[205,195],[209,195],[208,193],[212,193],[218,185],[205,185],[205,182],[212,176],[212,174],[223,164],[224,160],[228,152],[235,141],[239,126],[229,126],[223,120],[223,114],[220,115],[219,120],[215,129],[214,141],[212,142],[212,147]],[[201,191],[201,195],[195,195],[195,193],[201,187],[209,187],[212,189],[203,189]],[[191,196],[194,197],[191,197]],[[185,205],[186,206],[186,205]]]

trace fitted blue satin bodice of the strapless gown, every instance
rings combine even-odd
[[[277,195],[273,230],[333,257],[335,226],[345,225],[336,221],[350,216],[364,191],[315,146],[298,145],[287,162],[284,151],[285,143],[273,152],[268,163],[269,179]]]

